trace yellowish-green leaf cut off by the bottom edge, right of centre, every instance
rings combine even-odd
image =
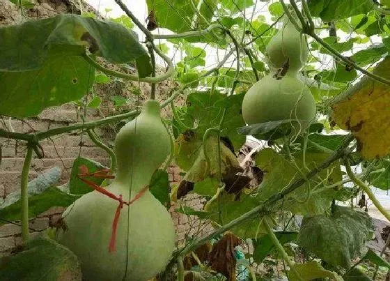
[[[303,280],[317,280],[322,278],[330,278],[331,280],[343,281],[340,275],[334,271],[327,271],[320,266],[317,261],[309,261],[306,264],[295,264],[295,269]],[[299,281],[300,279],[295,275],[294,271],[288,271],[290,281]]]

